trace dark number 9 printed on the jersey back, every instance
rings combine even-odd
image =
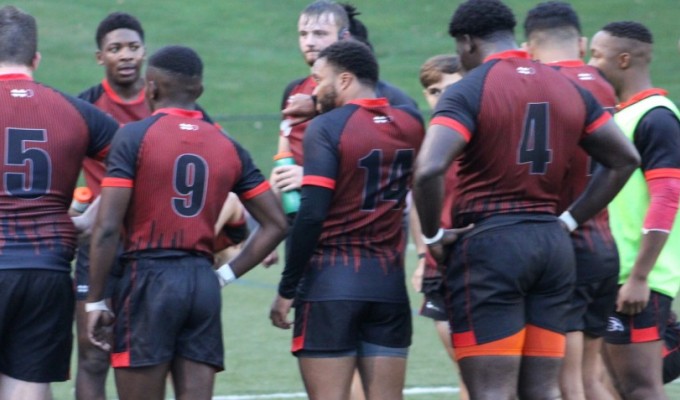
[[[182,217],[196,216],[205,204],[208,163],[196,154],[182,154],[175,160],[173,177],[175,192],[180,197],[172,198],[172,208]]]

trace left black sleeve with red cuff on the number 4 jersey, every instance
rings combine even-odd
[[[443,125],[458,131],[467,142],[477,127],[484,76],[474,72],[444,91],[430,121],[430,126]]]

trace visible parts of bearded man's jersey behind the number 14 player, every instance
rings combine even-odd
[[[316,82],[311,76],[300,78],[288,84],[283,91],[283,99],[281,101],[281,110],[288,105],[288,98],[294,94],[308,94],[311,96],[316,88]],[[406,93],[401,91],[396,86],[390,85],[384,81],[378,81],[375,87],[376,97],[385,97],[387,101],[393,106],[409,106],[418,109],[417,103],[410,98]],[[302,165],[304,156],[302,152],[302,138],[305,135],[305,130],[309,125],[309,121],[292,126],[290,130],[281,131],[279,134],[288,138],[288,143],[293,158],[297,165]]]

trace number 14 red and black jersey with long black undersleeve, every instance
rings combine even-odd
[[[310,123],[284,297],[295,295],[304,270],[304,300],[406,299],[402,218],[423,137],[418,112],[385,98],[355,100]]]

